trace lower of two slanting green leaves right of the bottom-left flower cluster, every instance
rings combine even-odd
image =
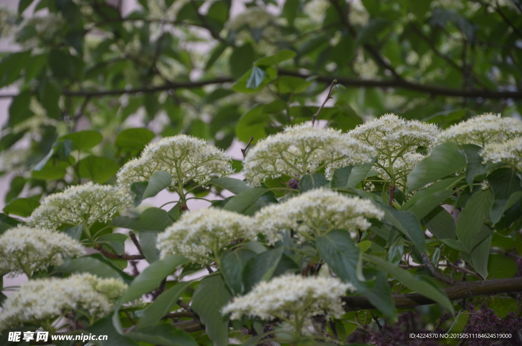
[[[172,308],[177,304],[177,299],[181,297],[183,292],[185,292],[191,283],[192,281],[181,282],[161,293],[152,304],[143,310],[137,329],[139,330],[156,325],[163,316],[170,313]]]

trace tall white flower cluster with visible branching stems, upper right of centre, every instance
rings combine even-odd
[[[385,114],[348,132],[377,149],[374,167],[383,178],[402,185],[408,172],[423,158],[417,148],[432,148],[438,133],[436,125],[405,120],[395,114]]]

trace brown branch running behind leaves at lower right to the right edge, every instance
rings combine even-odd
[[[457,299],[474,297],[482,294],[495,294],[522,291],[522,278],[495,279],[481,281],[459,282],[453,287],[444,290],[450,301]],[[419,293],[394,294],[392,296],[395,307],[406,308],[419,305],[435,304],[430,298],[424,297]],[[363,296],[341,297],[346,303],[345,311],[359,311],[375,309],[368,298]]]

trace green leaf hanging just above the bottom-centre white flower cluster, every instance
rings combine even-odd
[[[241,294],[244,292],[243,269],[248,260],[255,256],[256,253],[254,251],[243,247],[234,251],[227,251],[223,255],[219,271],[232,293]]]

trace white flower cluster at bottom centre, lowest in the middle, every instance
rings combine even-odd
[[[316,315],[339,318],[345,314],[340,296],[353,291],[350,283],[323,276],[282,275],[257,284],[248,294],[236,297],[222,309],[231,319],[241,316],[303,320]],[[297,316],[296,316],[297,314]]]

